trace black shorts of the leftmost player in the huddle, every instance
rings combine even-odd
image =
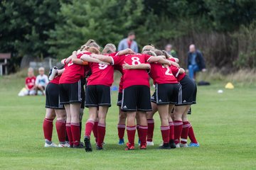
[[[46,108],[64,109],[60,104],[60,89],[58,84],[49,83],[46,86]]]

